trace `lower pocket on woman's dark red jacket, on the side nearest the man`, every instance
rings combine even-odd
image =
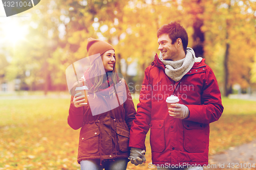
[[[130,138],[130,132],[123,129],[120,126],[116,127],[116,133],[118,138],[118,148],[122,152],[129,151],[129,138]],[[117,143],[116,143],[117,144]]]

